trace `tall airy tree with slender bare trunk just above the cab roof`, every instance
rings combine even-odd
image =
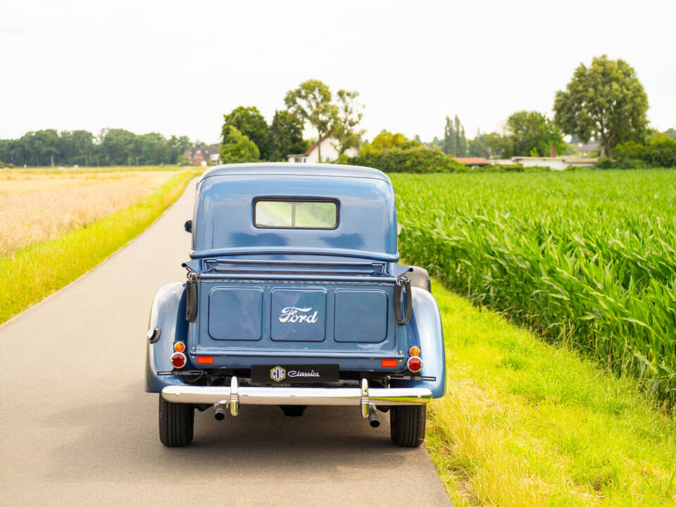
[[[318,155],[322,161],[322,137],[330,130],[337,115],[337,106],[331,103],[331,91],[320,80],[307,80],[284,97],[289,111],[303,122],[309,123],[318,134]]]

